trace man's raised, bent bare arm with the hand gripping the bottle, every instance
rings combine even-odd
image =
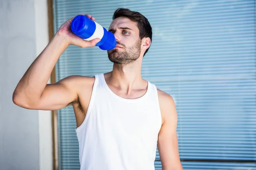
[[[87,17],[95,20],[90,15]],[[99,41],[99,39],[85,41],[73,34],[70,30],[72,20],[73,18],[62,24],[44,51],[20,79],[12,97],[16,105],[28,109],[55,110],[64,108],[77,98],[79,83],[82,79],[79,76],[71,76],[55,84],[47,84],[52,69],[68,45],[86,48],[95,46]]]

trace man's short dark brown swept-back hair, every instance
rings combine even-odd
[[[148,22],[148,19],[143,14],[140,14],[140,12],[131,11],[127,8],[117,8],[112,19],[115,20],[118,17],[127,17],[136,22],[140,31],[140,40],[142,40],[144,37],[149,37],[152,42],[152,28]],[[145,54],[148,52],[148,49],[146,49],[143,56],[145,56]]]

